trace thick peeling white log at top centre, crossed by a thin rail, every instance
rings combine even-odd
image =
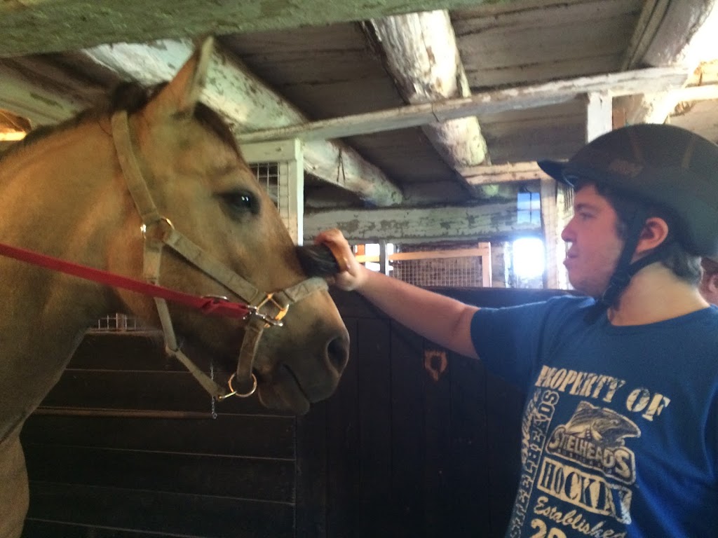
[[[406,103],[419,105],[471,95],[448,11],[373,19],[365,28]],[[428,123],[421,129],[454,170],[486,160],[486,141],[475,116]],[[465,187],[470,185],[465,183]],[[467,190],[475,194],[473,189]]]

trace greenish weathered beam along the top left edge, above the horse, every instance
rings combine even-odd
[[[0,2],[0,57],[113,42],[321,26],[480,0],[33,0]]]

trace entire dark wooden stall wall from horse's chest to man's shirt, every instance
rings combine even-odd
[[[552,294],[439,291],[481,306]],[[234,399],[213,420],[153,339],[88,336],[22,433],[23,537],[503,536],[521,395],[358,295],[335,299],[350,363],[299,418]]]

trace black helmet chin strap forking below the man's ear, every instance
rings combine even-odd
[[[633,278],[635,273],[638,273],[638,271],[647,265],[651,265],[651,263],[655,263],[665,258],[666,251],[668,250],[668,244],[670,242],[669,240],[661,243],[661,245],[656,247],[653,252],[645,255],[643,258],[640,258],[640,260],[636,260],[634,263],[631,263],[631,259],[635,253],[635,247],[638,246],[640,234],[643,231],[643,226],[645,225],[645,221],[648,220],[648,217],[648,211],[646,211],[643,207],[639,207],[635,210],[628,225],[628,233],[626,234],[628,239],[626,239],[626,242],[623,245],[623,250],[618,258],[616,268],[611,275],[608,287],[605,289],[602,296],[598,298],[591,311],[587,313],[586,320],[589,323],[596,321],[602,313],[607,311],[608,308],[617,306],[621,294],[623,294],[625,288],[628,288],[630,279]]]

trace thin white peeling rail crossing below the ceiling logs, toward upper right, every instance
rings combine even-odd
[[[452,98],[435,103],[407,105],[377,112],[307,122],[302,125],[241,133],[238,138],[243,142],[295,137],[303,140],[343,138],[416,127],[435,121],[465,118],[469,115],[493,114],[505,110],[555,105],[591,92],[607,92],[612,97],[634,95],[645,91],[658,92],[666,90],[666,88],[674,88],[676,84],[682,84],[684,76],[684,70],[681,68],[654,67],[608,75],[556,80],[505,90],[475,93],[466,98]]]

